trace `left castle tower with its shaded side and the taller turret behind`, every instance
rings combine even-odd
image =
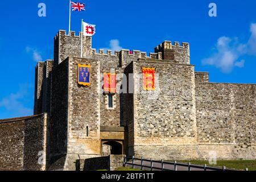
[[[84,37],[83,56],[91,51],[91,38]],[[79,158],[101,156],[100,62],[81,58],[81,32],[59,31],[54,40],[51,123],[49,124],[50,165],[61,161],[64,170],[75,169]],[[90,86],[77,84],[77,64],[90,65]]]

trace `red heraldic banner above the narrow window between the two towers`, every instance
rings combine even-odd
[[[104,73],[104,92],[116,93],[116,74]]]

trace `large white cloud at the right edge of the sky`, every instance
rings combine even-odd
[[[243,68],[245,60],[241,56],[256,55],[256,23],[251,24],[250,39],[247,43],[240,43],[238,38],[222,36],[214,47],[216,50],[210,57],[203,59],[203,65],[213,65],[224,73],[230,73],[234,67]]]

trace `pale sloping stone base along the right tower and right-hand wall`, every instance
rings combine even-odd
[[[135,146],[135,157],[154,160],[254,160],[256,147],[234,144],[174,144]]]

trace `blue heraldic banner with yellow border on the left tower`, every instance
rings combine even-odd
[[[79,85],[90,86],[90,65],[77,64],[77,82]]]

